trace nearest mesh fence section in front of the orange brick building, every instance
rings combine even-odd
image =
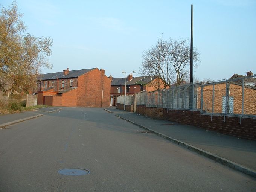
[[[197,86],[202,113],[256,115],[256,75]],[[201,105],[202,104],[202,105]]]

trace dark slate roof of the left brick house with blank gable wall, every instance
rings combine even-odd
[[[56,73],[46,73],[38,75],[38,80],[50,80],[50,79],[64,79],[64,78],[74,78],[78,77],[80,75],[83,75],[84,73],[87,73],[91,70],[94,70],[97,68],[92,69],[79,69],[79,70],[70,70],[69,74],[63,75],[63,72],[56,72]]]

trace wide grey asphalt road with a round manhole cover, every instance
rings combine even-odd
[[[63,108],[0,130],[0,191],[256,191],[256,179],[101,108]],[[81,176],[59,169],[83,168]]]

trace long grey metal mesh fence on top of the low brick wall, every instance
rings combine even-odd
[[[256,116],[256,75],[136,93],[136,104],[206,114]]]

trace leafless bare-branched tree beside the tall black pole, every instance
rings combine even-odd
[[[194,67],[199,64],[199,52],[194,47]],[[164,88],[175,84],[180,85],[181,81],[189,75],[190,46],[187,39],[163,40],[163,35],[158,38],[157,44],[151,49],[142,53],[143,75],[158,76]]]

